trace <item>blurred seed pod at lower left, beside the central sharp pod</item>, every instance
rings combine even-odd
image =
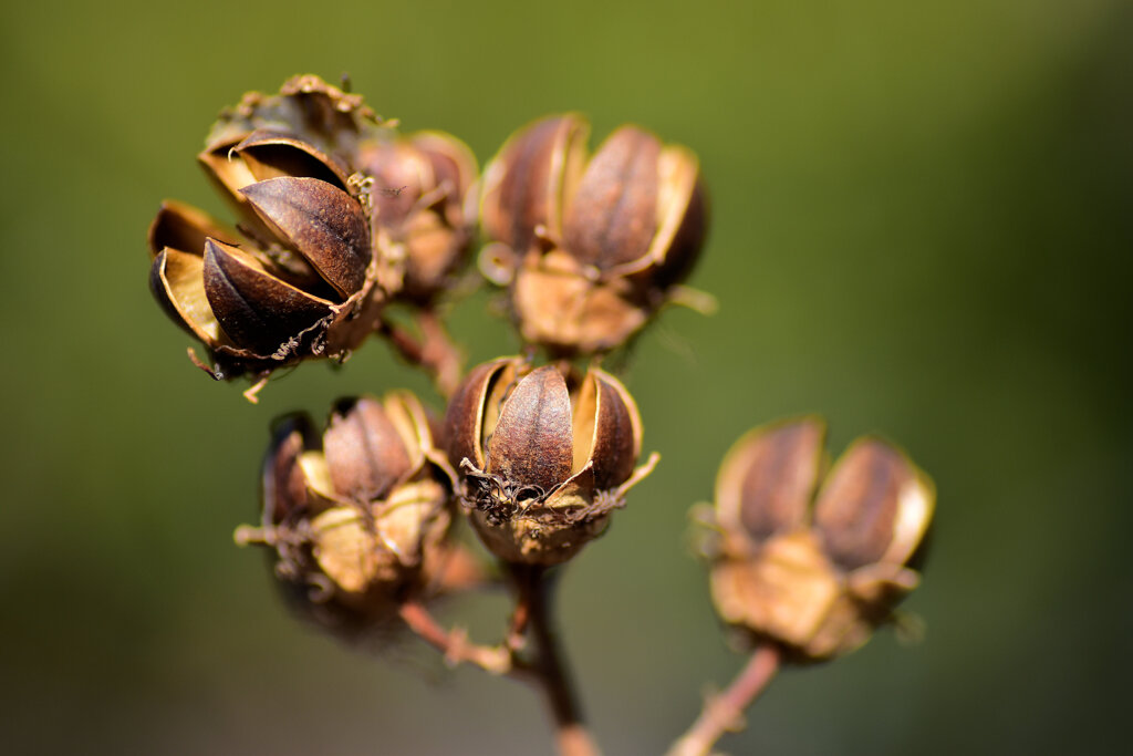
[[[303,415],[276,425],[261,525],[236,540],[269,549],[304,615],[351,636],[468,575],[467,557],[446,540],[453,479],[411,393],[346,400],[322,435]]]

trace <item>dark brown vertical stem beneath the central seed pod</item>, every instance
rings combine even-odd
[[[551,615],[553,584],[546,578],[546,568],[511,564],[510,571],[519,593],[517,612],[526,613],[536,654],[534,663],[517,672],[525,672],[546,696],[561,756],[596,756],[600,751],[582,723],[578,696],[556,638]]]

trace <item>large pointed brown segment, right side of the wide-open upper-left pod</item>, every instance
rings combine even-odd
[[[240,189],[267,226],[343,297],[366,281],[369,229],[350,195],[314,178],[280,177]]]

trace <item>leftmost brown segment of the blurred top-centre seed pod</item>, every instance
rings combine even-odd
[[[522,256],[535,245],[535,229],[562,231],[562,197],[580,173],[586,122],[576,114],[553,116],[518,131],[484,172],[480,216],[484,230]]]

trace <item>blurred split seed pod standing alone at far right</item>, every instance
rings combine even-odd
[[[832,659],[866,643],[920,581],[936,493],[892,444],[854,441],[826,475],[825,426],[756,428],[716,481],[712,594],[721,617],[789,659]]]

